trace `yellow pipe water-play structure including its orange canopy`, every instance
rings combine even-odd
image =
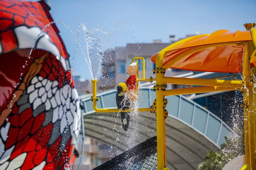
[[[240,90],[243,93],[244,104],[244,133],[245,133],[245,165],[242,169],[253,169],[255,162],[255,94],[253,93],[256,62],[256,28],[255,24],[245,24],[247,31],[231,32],[227,30],[215,31],[212,34],[203,34],[189,37],[185,40],[175,42],[164,48],[158,54],[151,57],[152,62],[156,63],[153,73],[156,78],[139,79],[136,74],[135,83],[140,81],[156,81],[154,91],[156,100],[151,108],[138,108],[138,111],[156,112],[157,129],[157,169],[167,170],[166,167],[166,123],[168,111],[165,109],[167,101],[165,96],[181,94],[197,94],[214,91],[233,91]],[[143,58],[134,58],[143,59]],[[145,62],[144,62],[145,64]],[[187,79],[164,77],[168,68],[185,69],[191,71],[209,71],[224,73],[242,73],[242,80],[223,80],[219,79]],[[144,74],[143,74],[144,75]],[[130,110],[120,109],[99,109],[96,102],[99,98],[96,95],[97,80],[92,80],[93,109],[98,112],[129,112]],[[167,84],[197,85],[199,87],[170,89],[166,90]],[[170,101],[169,101],[170,102]],[[160,114],[159,114],[160,113]]]

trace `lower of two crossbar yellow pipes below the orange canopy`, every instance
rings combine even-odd
[[[228,88],[228,87],[217,87],[217,86],[206,86],[206,87],[194,87],[194,88],[178,88],[166,90],[163,92],[164,96],[175,96],[183,94],[197,94],[197,93],[209,93],[215,91],[233,91],[239,90],[239,88]]]

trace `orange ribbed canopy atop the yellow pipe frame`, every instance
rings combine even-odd
[[[170,68],[190,71],[241,73],[244,45],[218,46],[218,44],[225,42],[246,42],[251,40],[250,31],[231,32],[228,30],[219,30],[212,34],[195,36],[169,51],[166,51],[163,58],[163,66],[195,47],[216,44],[215,47],[203,49],[180,59],[178,62],[171,65]],[[177,43],[179,44],[179,42]],[[151,57],[152,62],[156,62],[157,55],[158,53]]]

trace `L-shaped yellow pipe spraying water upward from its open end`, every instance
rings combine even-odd
[[[130,109],[127,109],[127,110],[125,110],[125,111],[123,111],[123,110],[120,110],[120,109],[99,109],[99,108],[97,108],[97,80],[92,80],[92,84],[93,84],[93,110],[94,111],[96,111],[96,112],[98,112],[98,113],[111,113],[111,112],[113,112],[113,113],[119,113],[119,112],[130,112]],[[133,111],[133,110],[132,110]],[[142,111],[144,111],[144,112],[150,112],[151,111],[151,108],[138,108],[138,111],[139,112],[142,112]]]

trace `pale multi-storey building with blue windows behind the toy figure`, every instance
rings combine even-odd
[[[126,81],[129,77],[126,69],[134,57],[143,57],[145,59],[145,78],[149,78],[150,76],[154,78],[155,75],[152,70],[155,68],[155,64],[151,62],[151,56],[170,44],[157,40],[154,43],[127,44],[126,47],[116,47],[105,51],[102,60],[102,78],[99,79],[98,88],[100,90],[112,89],[116,88],[119,82]],[[139,60],[140,77],[142,77],[142,69],[142,60]],[[166,76],[176,76],[188,72],[190,71],[168,69]]]

